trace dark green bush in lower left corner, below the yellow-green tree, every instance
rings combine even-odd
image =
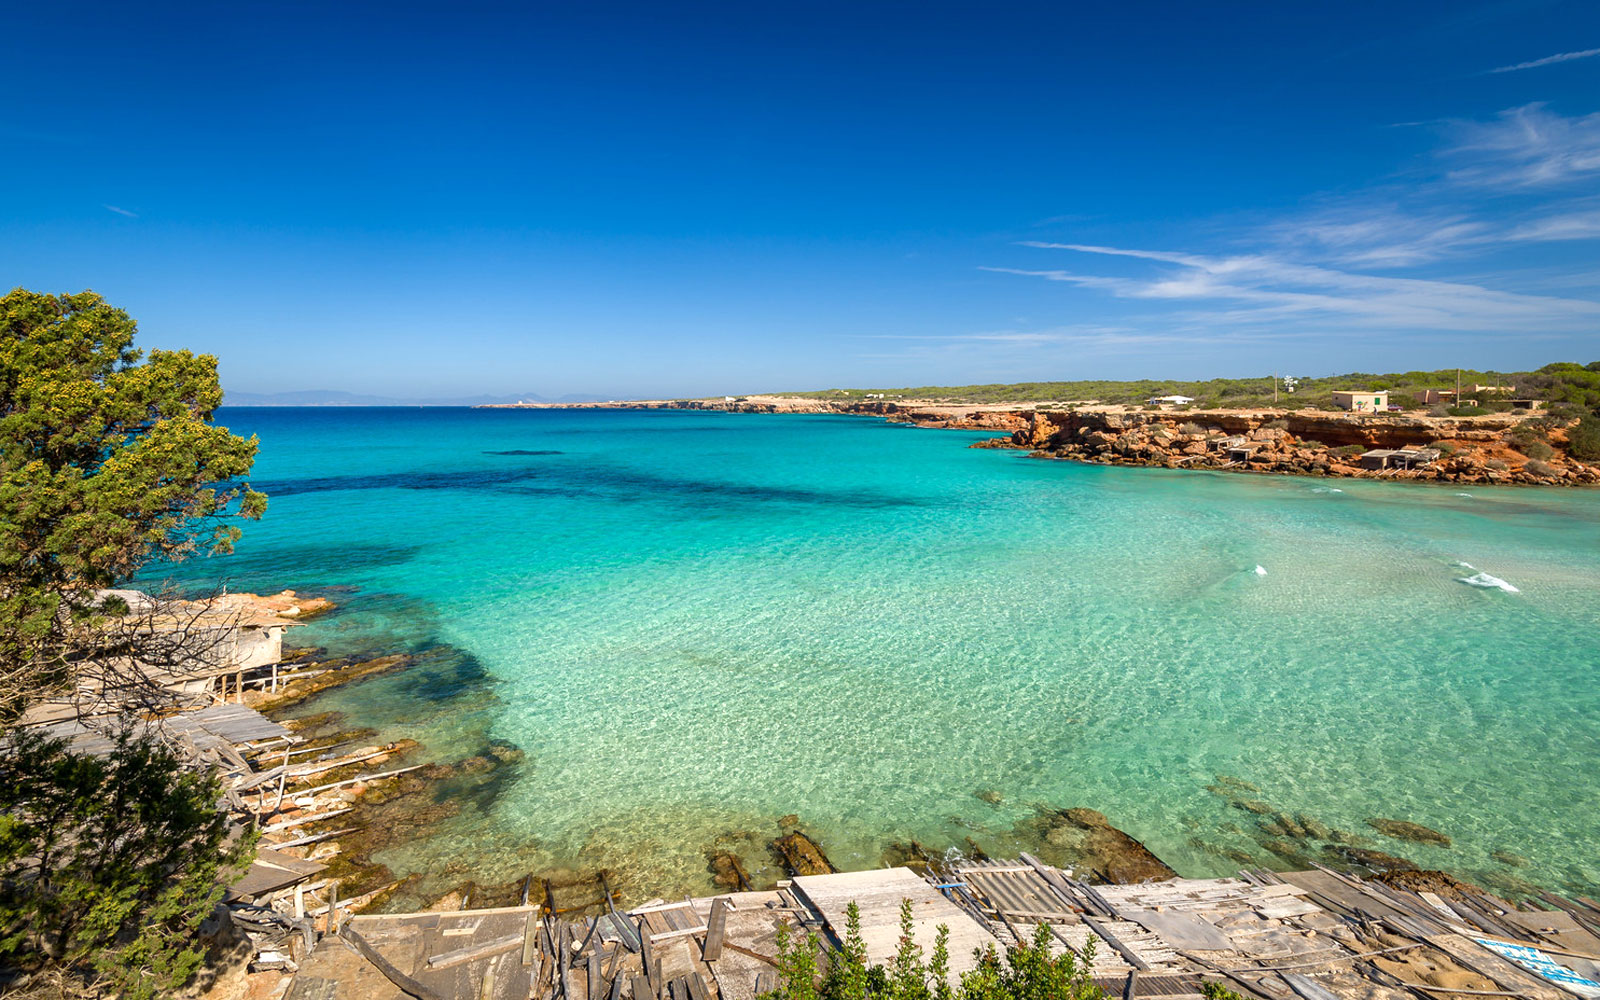
[[[229,840],[214,776],[149,734],[106,757],[30,730],[0,757],[0,958],[53,960],[142,1000],[187,982],[200,922],[254,834]]]

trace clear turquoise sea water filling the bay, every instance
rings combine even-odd
[[[357,587],[296,640],[454,653],[312,709],[526,752],[382,858],[445,888],[563,864],[701,888],[715,837],[789,813],[840,867],[910,837],[1014,851],[1037,803],[1187,875],[1282,867],[1218,774],[1430,867],[1600,886],[1597,493],[1102,469],[862,418],[222,422],[261,435],[270,510],[182,576]]]

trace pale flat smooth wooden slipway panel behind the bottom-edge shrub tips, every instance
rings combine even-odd
[[[922,946],[923,958],[933,955],[933,939],[939,925],[950,928],[950,971],[976,968],[974,952],[994,946],[1005,949],[994,934],[962,912],[944,893],[933,888],[910,869],[878,869],[842,872],[838,875],[800,875],[794,888],[802,902],[821,915],[835,934],[845,934],[845,907],[861,909],[861,939],[867,946],[867,962],[888,965],[899,947],[901,899],[910,899],[912,939]]]

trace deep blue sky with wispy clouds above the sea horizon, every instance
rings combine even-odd
[[[1600,358],[1600,5],[11,5],[0,282],[246,392]]]

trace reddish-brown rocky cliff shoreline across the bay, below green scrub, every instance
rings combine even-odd
[[[549,403],[520,408],[837,413],[877,416],[917,427],[1002,430],[1006,437],[973,446],[1016,448],[1038,458],[1102,466],[1461,485],[1600,485],[1600,466],[1579,462],[1568,454],[1565,429],[1544,422],[1541,414],[1531,411],[1451,418],[1326,410],[1149,411],[1126,406],[1040,408],[1027,403],[973,406],[803,397]],[[1365,453],[1374,450],[1419,448],[1438,454],[1408,469],[1366,467],[1362,461]]]

